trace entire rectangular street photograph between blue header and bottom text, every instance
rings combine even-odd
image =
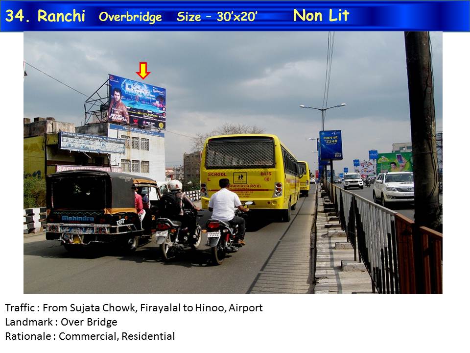
[[[442,293],[442,91],[442,32],[25,32],[24,294]]]

